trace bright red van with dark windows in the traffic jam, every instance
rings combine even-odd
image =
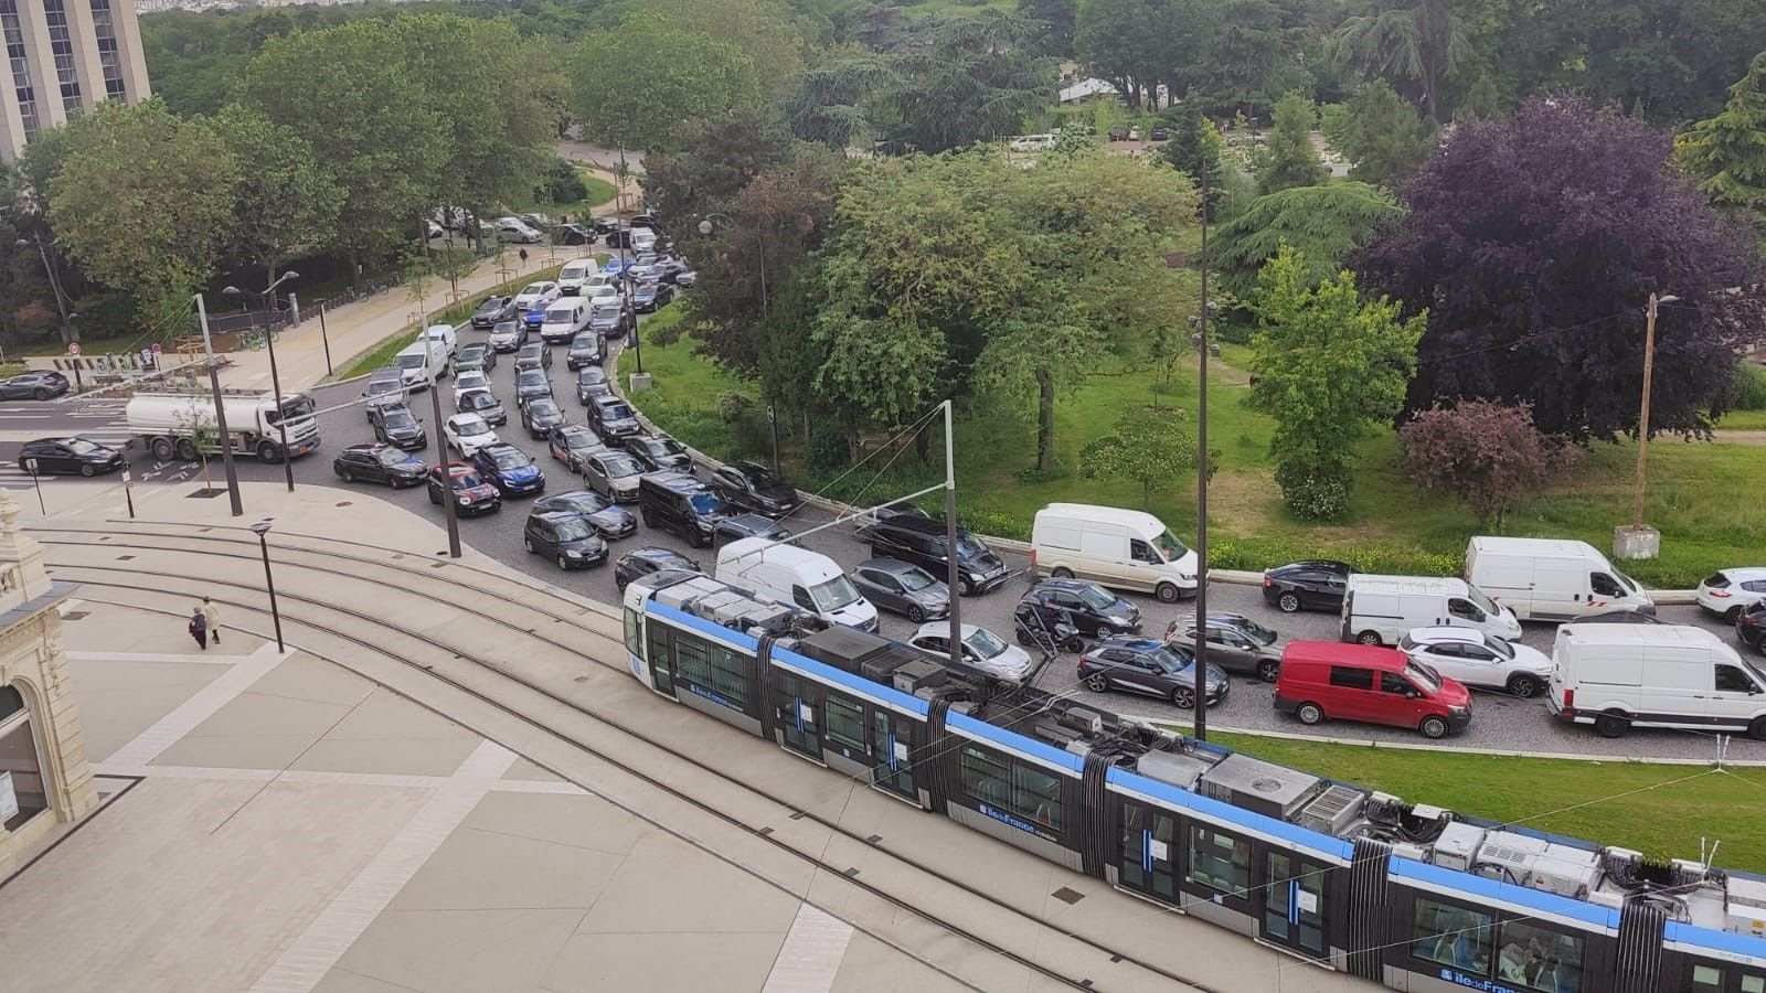
[[[1324,719],[1416,728],[1425,739],[1471,724],[1471,693],[1397,648],[1289,641],[1275,709],[1302,724]]]

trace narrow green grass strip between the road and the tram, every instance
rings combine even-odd
[[[1701,838],[1720,839],[1718,866],[1766,871],[1766,832],[1759,830],[1766,769],[1457,754],[1219,731],[1208,739],[1413,804],[1660,859],[1697,859]]]

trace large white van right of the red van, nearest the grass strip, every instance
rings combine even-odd
[[[1545,707],[1607,739],[1632,724],[1766,739],[1766,675],[1702,627],[1565,624]]]

